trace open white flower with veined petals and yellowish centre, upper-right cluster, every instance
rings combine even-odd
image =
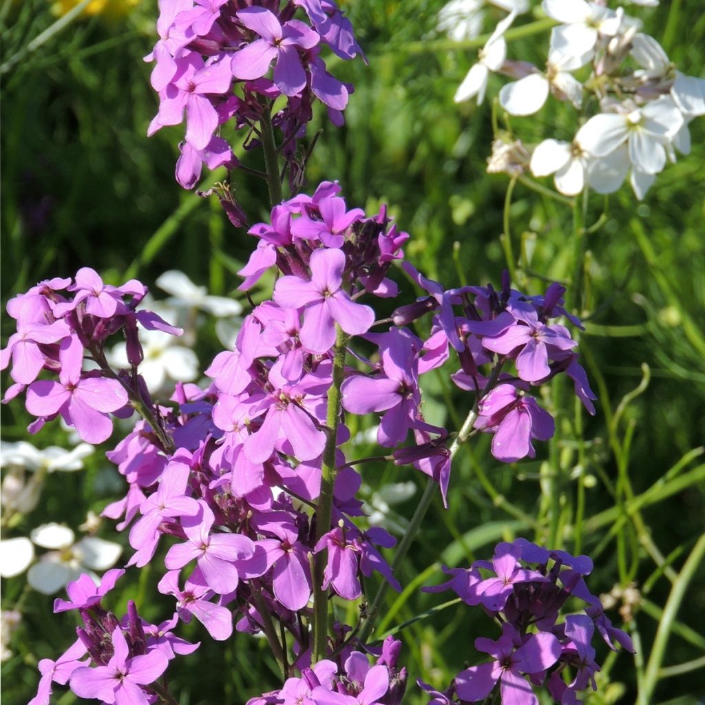
[[[632,166],[644,174],[656,174],[666,166],[666,145],[682,125],[673,99],[664,96],[628,112],[600,113],[575,138],[594,157],[606,157],[626,143]]]

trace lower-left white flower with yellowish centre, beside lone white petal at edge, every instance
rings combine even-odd
[[[74,543],[73,531],[54,522],[37,527],[30,537],[37,546],[54,549],[44,553],[27,572],[27,582],[45,595],[66,587],[82,573],[99,584],[99,577],[93,571],[112,568],[123,550],[120,544],[97,537],[85,537]]]

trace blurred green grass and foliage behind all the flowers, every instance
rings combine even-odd
[[[505,266],[498,236],[508,179],[486,173],[491,105],[453,104],[476,51],[449,47],[435,31],[442,4],[342,3],[369,66],[359,60],[329,62],[333,73],[355,84],[355,94],[345,128],[336,129],[317,114],[311,134],[319,127],[324,131],[309,166],[309,184],[338,179],[349,206],[368,212],[388,203],[400,227],[412,234],[407,256],[447,287],[497,285]],[[67,6],[71,2],[63,11]],[[14,62],[1,77],[3,302],[43,278],[71,276],[79,266],[92,266],[112,283],[129,274],[149,286],[163,271],[180,269],[211,293],[233,294],[240,281],[234,272],[247,261],[254,240],[228,223],[217,200],[176,184],[181,126],[145,136],[158,105],[149,86],[151,67],[142,61],[154,44],[156,3],[112,0],[93,10],[15,61],[56,20],[57,7],[44,0],[2,4],[0,63]],[[644,18],[644,30],[681,71],[702,75],[701,0],[662,0],[658,8],[632,6],[632,11]],[[486,27],[501,16],[490,9]],[[544,32],[513,42],[510,56],[539,61],[547,41]],[[502,84],[503,79],[491,78],[489,95]],[[555,102],[537,116],[515,118],[513,127],[528,142],[570,139],[575,130],[568,111]],[[623,614],[640,646],[637,668],[628,654],[609,661],[608,679],[589,697],[591,704],[635,701],[663,606],[705,527],[705,473],[701,450],[694,450],[705,439],[705,120],[690,127],[692,154],[668,165],[643,202],[628,186],[607,206],[601,198],[589,202],[588,223],[606,214],[601,228],[587,236],[588,324],[581,341],[600,403],[596,417],[582,419],[582,436],[572,417],[559,422],[565,473],[558,490],[570,506],[580,493],[585,502],[584,525],[577,531],[566,522],[563,538],[568,550],[577,537],[580,550],[594,555],[592,591],[637,588],[635,603]],[[258,158],[249,157],[252,165],[259,166]],[[266,216],[263,183],[241,175],[237,197],[250,222]],[[570,279],[570,207],[517,184],[510,216],[515,251],[521,241],[530,255],[530,262],[523,262],[522,288],[542,293],[546,278]],[[11,323],[4,317],[4,336]],[[197,343],[203,365],[217,345],[212,335]],[[642,381],[644,364],[649,384],[623,403],[615,419],[620,401]],[[427,386],[431,415],[439,420],[447,415],[453,427],[467,410],[462,394],[446,389],[441,379]],[[4,408],[3,418],[5,440],[23,437],[27,417],[21,405]],[[59,429],[49,428],[33,442],[42,447],[62,439]],[[489,558],[502,537],[537,532],[532,517],[541,503],[539,472],[548,450],[541,448],[537,460],[513,467],[498,465],[488,448],[488,439],[478,439],[461,455],[450,509],[443,512],[440,503],[431,508],[428,529],[400,576],[403,584],[422,574],[426,582],[439,582],[436,561],[465,565]],[[35,515],[8,535],[23,535],[41,520],[75,527],[88,508],[99,510],[119,496],[116,472],[97,455],[84,473],[49,477]],[[392,479],[420,483],[409,473],[381,467],[365,470],[365,479],[372,489]],[[397,509],[410,516],[414,506],[412,498]],[[113,534],[110,526],[103,527],[102,535]],[[171,608],[171,601],[154,601],[158,578],[145,570],[140,584],[130,588],[154,620],[166,618]],[[415,581],[416,588],[420,584]],[[128,591],[116,596],[116,604],[124,604]],[[52,616],[51,598],[28,593],[22,578],[8,583],[5,598],[8,606],[21,599],[25,613],[2,671],[8,704],[22,703],[35,692],[37,660],[66,648],[75,622],[71,615]],[[391,595],[384,627],[438,603],[417,589],[401,599]],[[652,702],[688,705],[705,698],[705,665],[684,673],[668,670],[697,659],[702,663],[704,615],[705,568],[700,566],[670,625]],[[620,623],[616,610],[611,617]],[[415,623],[403,632],[410,672],[444,687],[464,661],[477,656],[472,643],[486,627],[482,615],[455,613],[455,608]],[[198,627],[190,634],[204,636]],[[223,651],[206,638],[173,676],[180,703],[240,703],[276,687],[276,666],[260,647],[261,642],[238,637]],[[214,674],[223,676],[224,685]],[[56,702],[73,702],[71,693],[62,693]],[[422,701],[412,682],[407,699]]]

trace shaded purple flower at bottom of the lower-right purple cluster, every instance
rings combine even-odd
[[[517,644],[519,648],[517,649]],[[502,636],[475,639],[475,648],[494,658],[490,663],[471,666],[455,678],[455,692],[462,700],[484,700],[500,683],[502,702],[506,705],[539,705],[524,674],[537,675],[551,668],[560,656],[560,642],[552,634],[530,635],[522,644],[519,632],[505,624]]]

